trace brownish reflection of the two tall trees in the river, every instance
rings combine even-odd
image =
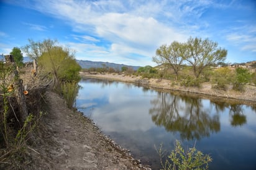
[[[151,104],[149,114],[153,122],[165,127],[168,132],[179,132],[183,140],[199,140],[210,133],[219,132],[221,128],[219,115],[209,114],[201,99],[158,92]]]

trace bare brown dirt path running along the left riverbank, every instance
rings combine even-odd
[[[40,125],[37,169],[146,169],[103,135],[91,120],[46,92],[48,114]],[[149,168],[148,168],[149,169]]]

